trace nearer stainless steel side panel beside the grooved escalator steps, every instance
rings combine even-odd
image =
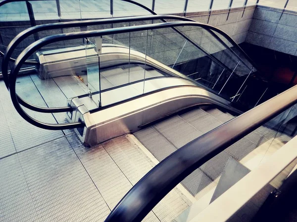
[[[87,145],[95,145],[126,133],[168,114],[201,104],[215,104],[230,109],[229,102],[198,87],[165,89],[118,106],[84,115]],[[91,118],[91,119],[89,119]],[[94,124],[89,124],[89,123]]]

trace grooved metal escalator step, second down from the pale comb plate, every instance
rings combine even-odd
[[[202,135],[202,132],[189,124],[179,115],[173,116],[153,127],[165,138],[171,141],[176,148],[181,148]]]

